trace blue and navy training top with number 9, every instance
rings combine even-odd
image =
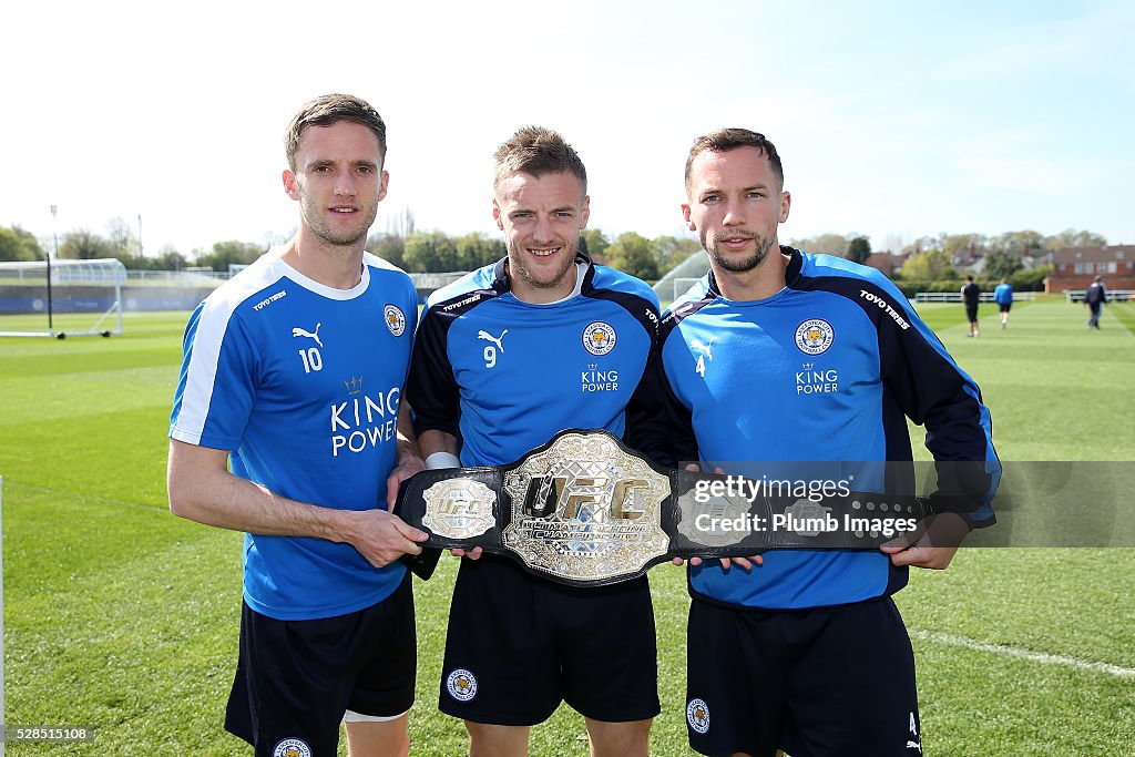
[[[632,276],[577,260],[577,293],[556,303],[518,300],[505,260],[430,296],[406,384],[418,434],[457,437],[462,465],[515,462],[566,428],[623,435],[658,298]]]

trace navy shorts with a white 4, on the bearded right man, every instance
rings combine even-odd
[[[890,597],[800,611],[695,599],[688,632],[696,751],[922,756],[914,651]]]

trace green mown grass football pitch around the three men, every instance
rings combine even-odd
[[[1018,304],[1004,330],[986,305],[977,339],[959,304],[920,312],[982,387],[1003,461],[1135,461],[1135,303],[1109,305],[1100,331],[1062,300]],[[127,314],[110,339],[0,339],[3,721],[94,729],[92,742],[8,754],[251,754],[221,727],[241,535],[166,505],[186,317]],[[922,429],[913,438],[927,460]],[[1112,504],[1135,516],[1130,494]],[[465,749],[462,724],[436,709],[456,563],[414,579],[412,754]],[[658,566],[650,583],[663,701],[651,754],[686,755],[684,570]],[[944,572],[911,570],[896,600],[926,754],[1135,755],[1133,592],[1133,548],[964,548]],[[582,718],[561,707],[531,751],[586,755]]]

